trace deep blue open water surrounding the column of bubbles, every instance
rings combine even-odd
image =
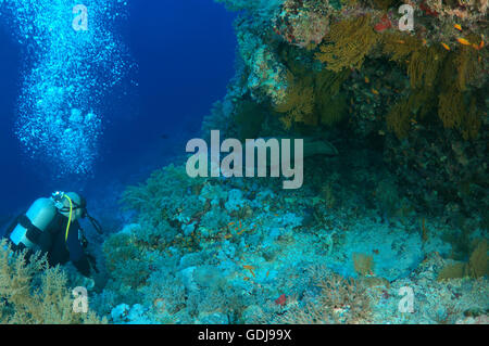
[[[54,4],[53,4],[54,7]],[[103,137],[91,175],[55,177],[33,161],[14,133],[26,53],[11,21],[0,21],[0,215],[26,208],[51,190],[106,195],[110,182],[129,182],[185,153],[202,117],[234,75],[235,14],[212,0],[131,1],[115,26],[137,67],[104,94]],[[0,18],[2,18],[0,16]],[[130,84],[130,80],[137,82]]]

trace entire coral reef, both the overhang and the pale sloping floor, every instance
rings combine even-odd
[[[410,2],[401,31],[400,1],[217,2],[239,11],[236,75],[202,136],[303,138],[303,185],[154,171],[123,195],[134,214],[104,241],[96,311],[115,323],[487,319],[486,3]],[[417,305],[400,313],[405,287]]]

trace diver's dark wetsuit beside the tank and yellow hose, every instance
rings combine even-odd
[[[48,228],[42,232],[39,240],[39,245],[43,252],[48,253],[48,262],[54,267],[57,265],[64,265],[68,260],[85,275],[90,275],[90,264],[87,255],[78,240],[78,230],[80,228],[78,221],[72,222],[67,240],[65,241],[66,225],[68,219],[57,212],[57,215],[49,223]],[[5,238],[10,239],[10,234],[18,223],[18,218],[7,229]],[[46,235],[46,236],[45,236]],[[22,249],[25,246],[15,246],[14,249]]]

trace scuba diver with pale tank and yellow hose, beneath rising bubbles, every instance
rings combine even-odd
[[[101,233],[99,222],[88,214],[87,202],[82,195],[57,191],[50,198],[35,201],[27,213],[12,222],[4,236],[14,251],[27,248],[28,254],[46,253],[52,267],[71,260],[85,278],[90,279],[90,268],[99,271],[95,257],[85,252],[88,242],[79,225],[83,218],[88,218]]]

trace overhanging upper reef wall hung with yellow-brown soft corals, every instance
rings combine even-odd
[[[237,74],[204,130],[330,138],[340,124],[419,207],[488,222],[487,1],[217,2],[240,10]]]

